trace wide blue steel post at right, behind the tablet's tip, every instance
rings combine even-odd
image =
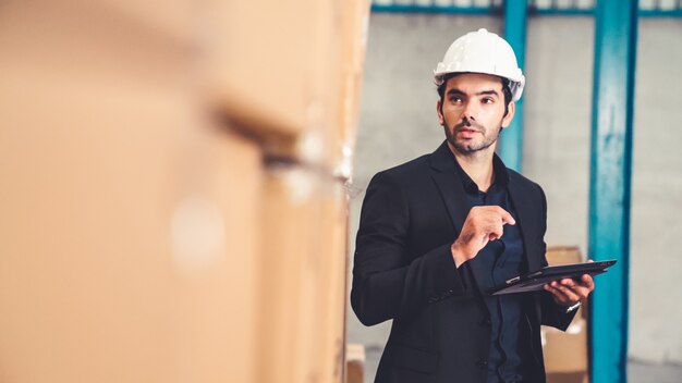
[[[596,277],[592,298],[593,383],[626,382],[632,124],[637,36],[636,0],[599,0],[589,189],[589,249],[595,260],[617,258]]]

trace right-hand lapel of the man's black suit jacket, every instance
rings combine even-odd
[[[519,224],[521,236],[523,237],[523,252],[526,257],[528,271],[538,270],[541,267],[540,258],[531,257],[532,251],[535,250],[533,245],[535,243],[532,240],[539,235],[538,222],[534,219],[538,207],[531,198],[532,194],[524,190],[514,178],[512,176],[509,181],[509,197],[519,217],[516,224]]]

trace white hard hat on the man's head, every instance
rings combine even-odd
[[[509,42],[485,28],[470,32],[452,42],[434,71],[436,85],[440,86],[449,73],[465,72],[508,78],[513,101],[521,98],[526,82]]]

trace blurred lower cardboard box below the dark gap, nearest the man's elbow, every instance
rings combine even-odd
[[[301,165],[271,164],[266,173],[259,382],[341,381],[343,289],[338,283],[345,268],[343,246],[332,240],[332,231],[344,230],[345,220],[334,217],[340,212],[332,201],[336,188],[340,185],[331,177]]]

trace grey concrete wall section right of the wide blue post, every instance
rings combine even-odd
[[[682,363],[682,20],[640,22],[632,187],[631,358]]]

